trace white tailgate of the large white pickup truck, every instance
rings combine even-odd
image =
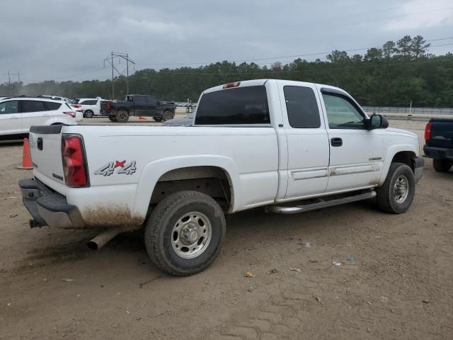
[[[32,126],[30,128],[30,151],[33,174],[51,186],[55,182],[64,185],[62,163],[62,128],[64,125]]]

